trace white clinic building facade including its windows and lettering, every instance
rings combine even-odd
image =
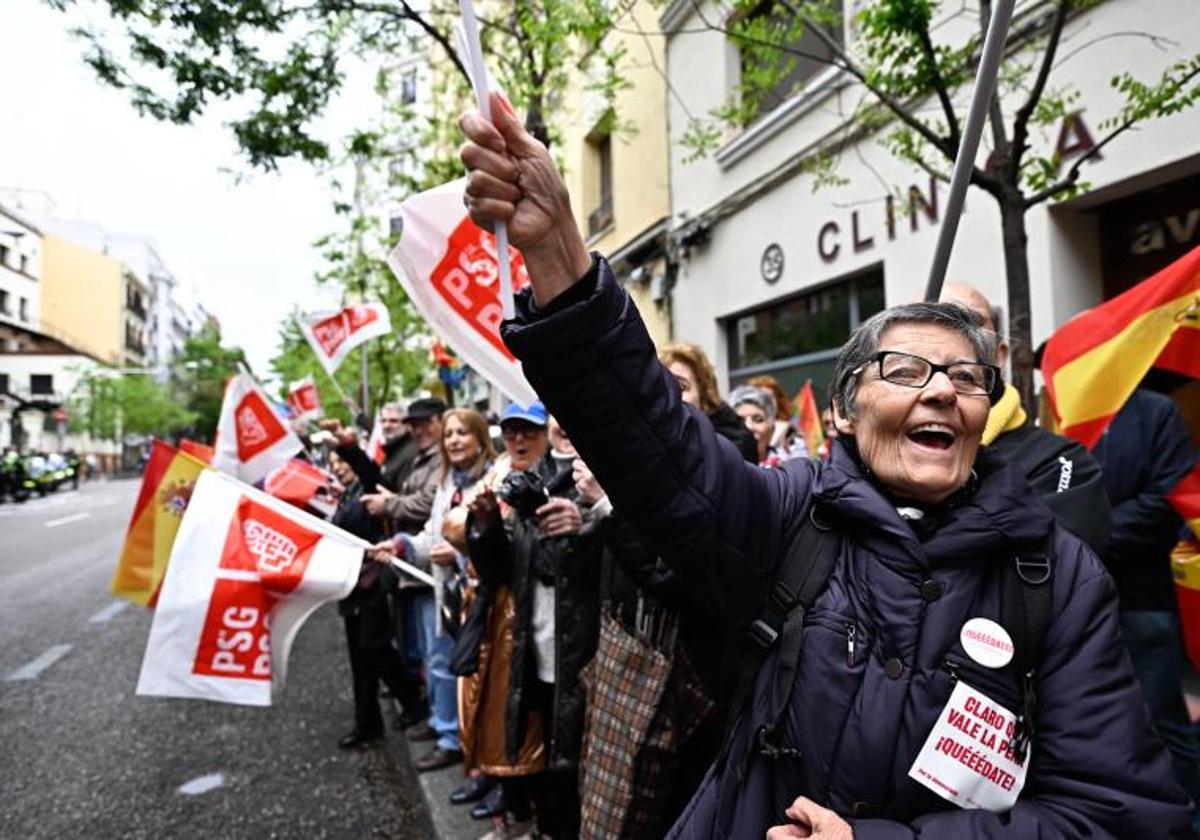
[[[852,50],[853,5],[844,6],[851,14],[839,35]],[[1014,31],[1048,7],[1019,2]],[[942,8],[940,38],[977,31],[976,13],[958,4]],[[1064,163],[1084,154],[1121,104],[1109,85],[1114,68],[1153,80],[1189,58],[1200,42],[1194,12],[1189,0],[1108,0],[1073,18],[1051,84],[1078,89],[1079,98],[1062,120],[1034,131],[1033,146],[1057,149]],[[709,25],[721,16],[720,4],[674,0],[660,19],[673,91],[674,331],[710,353],[726,384],[770,373],[790,392],[809,378],[823,389],[857,323],[922,298],[947,187],[868,136],[835,156],[841,184],[818,190],[814,151],[845,131],[864,95],[821,61],[797,65],[800,92],[768,102],[746,127],[728,132],[715,154],[690,160],[683,139],[692,115],[719,108],[738,85],[738,50]],[[1136,32],[1169,40],[1130,35]],[[1003,102],[1009,121],[1020,94]],[[960,114],[967,98],[968,91],[959,91]],[[1082,174],[1084,194],[1026,215],[1034,344],[1200,245],[1200,108],[1141,125],[1104,148]],[[978,286],[1001,305],[1007,299],[998,210],[979,190],[968,193],[948,277]]]

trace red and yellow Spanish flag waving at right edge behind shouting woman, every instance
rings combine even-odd
[[[1200,378],[1200,247],[1050,336],[1058,430],[1091,449],[1151,367]]]

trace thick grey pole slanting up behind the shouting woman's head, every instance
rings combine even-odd
[[[468,2],[469,0],[463,0]],[[984,40],[983,55],[979,59],[979,72],[976,73],[974,95],[971,97],[971,110],[959,143],[959,156],[954,161],[954,175],[950,178],[950,197],[946,203],[946,218],[937,234],[937,248],[934,251],[934,265],[929,271],[929,284],[925,287],[925,300],[936,301],[942,295],[942,282],[946,280],[946,266],[950,262],[954,248],[954,235],[959,230],[959,218],[962,216],[962,202],[971,184],[971,172],[974,169],[976,152],[979,151],[979,138],[983,136],[983,124],[988,119],[988,106],[996,91],[996,74],[1000,72],[1000,60],[1004,55],[1004,40],[1008,37],[1008,24],[1013,19],[1015,0],[996,0],[988,24],[988,37]]]

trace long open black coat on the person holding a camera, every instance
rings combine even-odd
[[[556,473],[547,455],[538,464],[544,481]],[[572,498],[575,487],[559,493]],[[554,569],[554,726],[545,733],[546,768],[574,770],[583,739],[584,691],[580,671],[599,638],[599,546],[593,534],[547,539],[535,521],[508,516],[482,528],[468,520],[467,545],[480,581],[490,590],[508,584],[516,606],[512,666],[505,713],[509,761],[516,763],[532,709],[526,686],[538,678],[533,638],[534,565],[541,553]]]

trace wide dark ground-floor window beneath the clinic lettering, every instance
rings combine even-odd
[[[875,266],[730,318],[731,386],[769,373],[793,394],[811,379],[823,401],[841,346],[883,307],[883,268]]]

